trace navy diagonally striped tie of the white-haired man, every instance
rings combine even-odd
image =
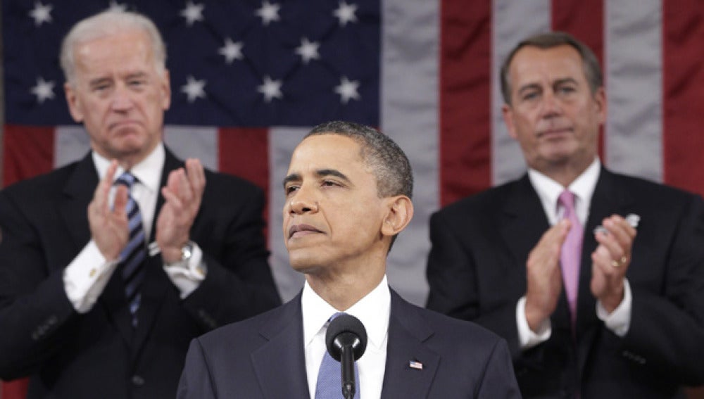
[[[127,190],[132,189],[132,184],[137,180],[130,172],[125,172],[115,180],[115,184],[127,186]],[[127,213],[130,237],[127,246],[120,252],[120,268],[122,279],[125,281],[125,297],[130,305],[132,313],[132,326],[137,327],[137,310],[142,302],[142,282],[144,282],[144,258],[146,258],[146,248],[144,247],[145,234],[142,227],[142,213],[139,212],[139,205],[134,201],[131,194],[127,194]]]

